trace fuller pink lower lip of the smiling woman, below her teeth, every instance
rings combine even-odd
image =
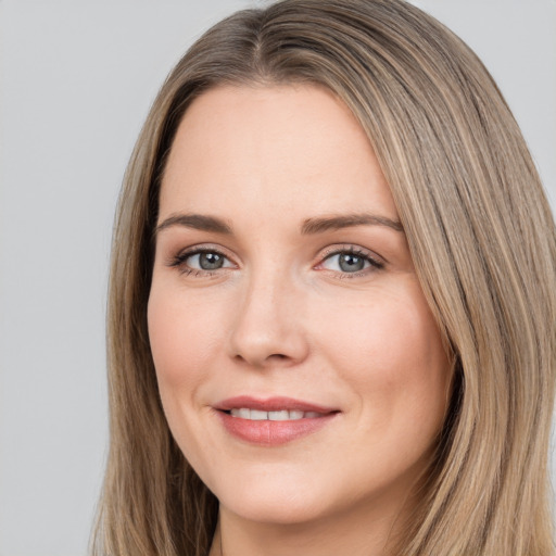
[[[232,417],[225,412],[217,413],[225,429],[232,437],[262,446],[279,446],[287,442],[313,434],[328,425],[338,415],[337,413],[330,413],[323,417],[288,421],[255,421]]]

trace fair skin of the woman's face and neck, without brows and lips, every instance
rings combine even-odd
[[[231,233],[168,220],[192,213]],[[301,230],[363,213],[399,220],[367,137],[330,92],[220,87],[185,114],[162,182],[148,320],[172,432],[220,502],[212,556],[220,541],[226,556],[383,555],[412,508],[451,377],[405,235],[377,223]],[[184,254],[199,248],[224,265],[201,269]],[[346,271],[338,250],[379,266]],[[223,427],[214,407],[237,395],[338,413],[265,446]]]

